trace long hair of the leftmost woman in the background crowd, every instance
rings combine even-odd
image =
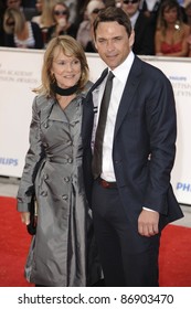
[[[12,21],[14,25],[10,25],[9,22]],[[3,18],[3,29],[8,34],[21,33],[24,29],[25,17],[22,11],[15,8],[8,8],[4,12]]]

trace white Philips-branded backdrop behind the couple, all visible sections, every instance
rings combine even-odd
[[[44,51],[0,49],[0,177],[20,178],[29,147],[32,89],[41,84]],[[170,79],[177,105],[177,157],[172,187],[181,204],[191,205],[191,58],[141,58]],[[87,54],[91,79],[105,68],[97,54]]]

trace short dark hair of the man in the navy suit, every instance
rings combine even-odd
[[[94,29],[95,38],[96,38],[96,30],[98,24],[100,22],[109,22],[109,21],[116,21],[119,24],[124,25],[128,36],[130,36],[132,28],[128,15],[120,8],[108,7],[106,9],[100,10],[94,21],[93,29]]]

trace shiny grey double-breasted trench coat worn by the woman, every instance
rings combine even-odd
[[[82,169],[78,95],[63,111],[53,98],[33,102],[30,148],[18,191],[18,211],[30,211],[35,193],[38,228],[25,277],[43,286],[92,286],[100,277]]]

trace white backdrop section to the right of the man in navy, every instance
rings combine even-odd
[[[172,187],[178,201],[191,204],[191,58],[142,57],[170,79],[176,96],[178,137]]]

